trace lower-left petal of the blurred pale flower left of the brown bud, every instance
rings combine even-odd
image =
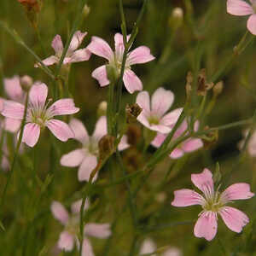
[[[61,166],[76,167],[79,166],[85,157],[84,148],[76,149],[68,154],[61,156]]]

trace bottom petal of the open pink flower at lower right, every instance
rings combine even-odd
[[[216,236],[217,229],[217,213],[202,212],[195,224],[194,234],[196,237],[204,237],[207,241],[211,241]]]

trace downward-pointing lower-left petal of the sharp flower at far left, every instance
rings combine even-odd
[[[20,137],[20,132],[18,138]],[[40,137],[40,126],[34,123],[28,123],[24,126],[22,143],[26,143],[29,147],[34,147],[38,143]]]

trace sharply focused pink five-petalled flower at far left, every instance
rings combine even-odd
[[[29,147],[34,147],[38,143],[40,131],[45,127],[62,142],[74,137],[71,128],[61,120],[54,119],[54,117],[56,115],[77,113],[79,108],[75,108],[73,99],[61,99],[48,108],[47,95],[48,87],[46,84],[34,84],[29,91],[26,125],[22,137],[22,142]],[[2,114],[7,118],[22,120],[24,111],[25,106],[19,102],[3,102]]]

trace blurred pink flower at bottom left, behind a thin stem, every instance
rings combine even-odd
[[[70,252],[73,250],[74,244],[77,243],[79,247],[79,212],[82,200],[73,203],[70,215],[66,208],[61,205],[58,201],[53,201],[51,204],[51,212],[54,217],[64,225],[64,230],[61,232],[58,247],[61,250]],[[84,210],[89,208],[89,203],[86,201]],[[96,224],[89,223],[84,225],[84,242],[82,248],[83,256],[94,256],[93,249],[90,244],[89,236],[97,238],[107,238],[111,235],[109,224]]]

